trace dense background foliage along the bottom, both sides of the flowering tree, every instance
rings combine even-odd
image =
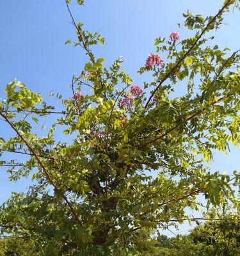
[[[147,237],[146,237],[147,238]],[[32,238],[33,239],[33,238]],[[138,241],[143,243],[143,241]],[[42,255],[34,239],[5,237],[1,240],[0,256]],[[240,255],[240,222],[237,214],[223,221],[209,221],[192,229],[188,235],[149,239],[139,255],[152,256],[236,256]]]

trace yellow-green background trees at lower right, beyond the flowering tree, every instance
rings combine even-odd
[[[234,256],[239,255],[239,216],[229,214],[224,221],[208,221],[198,225],[188,235],[158,237],[156,255],[172,256]]]

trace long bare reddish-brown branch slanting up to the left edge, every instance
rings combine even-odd
[[[17,135],[19,136],[19,138],[25,143],[25,145],[28,147],[29,151],[31,152],[31,154],[33,154],[33,156],[35,156],[36,161],[38,161],[38,164],[42,167],[42,170],[44,172],[45,177],[47,178],[47,180],[49,181],[49,183],[54,187],[56,193],[58,193],[58,195],[61,196],[61,198],[63,198],[63,200],[65,200],[65,202],[67,203],[70,211],[72,212],[72,215],[74,216],[74,218],[76,219],[77,223],[83,227],[83,223],[81,222],[81,220],[79,220],[76,211],[74,210],[74,207],[72,206],[72,204],[70,203],[70,201],[68,200],[67,196],[65,196],[60,189],[58,188],[58,186],[56,185],[56,183],[51,179],[49,173],[47,172],[47,169],[45,168],[44,164],[42,163],[42,161],[40,160],[40,157],[38,157],[38,155],[35,153],[35,150],[33,150],[33,148],[31,147],[31,145],[29,145],[28,141],[24,138],[24,136],[22,136],[22,134],[20,134],[19,130],[15,127],[15,125],[8,119],[7,116],[3,115],[3,113],[0,111],[0,115],[4,118],[4,120],[6,120],[6,122],[10,125],[10,127],[12,127],[13,131],[15,131],[17,133]]]

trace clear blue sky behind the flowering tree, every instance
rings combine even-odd
[[[76,4],[71,7],[76,20],[83,22],[85,28],[100,31],[106,37],[106,46],[93,48],[97,57],[106,58],[109,65],[123,56],[124,69],[134,83],[141,85],[143,77],[136,71],[154,51],[154,39],[160,35],[167,37],[170,31],[179,31],[184,38],[186,31],[177,27],[177,23],[183,22],[183,12],[189,9],[192,13],[210,15],[218,11],[221,3],[220,0],[86,0],[84,8]],[[236,51],[240,48],[240,15],[236,10],[225,17],[227,24],[216,33],[215,42]],[[31,90],[41,92],[49,102],[51,90],[70,97],[67,85],[73,74],[81,72],[86,57],[79,47],[64,44],[76,38],[64,0],[0,0],[0,31],[0,98],[4,98],[6,83],[15,77]],[[0,122],[0,136],[4,135],[10,133]],[[232,148],[228,156],[214,154],[212,171],[231,173],[239,168],[239,153],[239,149]],[[0,168],[0,203],[12,190],[23,191],[28,184],[31,181],[10,183]]]

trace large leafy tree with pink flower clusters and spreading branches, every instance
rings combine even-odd
[[[122,58],[109,68],[95,58],[90,47],[104,38],[77,24],[66,4],[77,33],[77,42],[66,44],[81,47],[89,62],[72,77],[72,99],[56,95],[61,111],[23,83],[7,84],[0,116],[15,134],[0,138],[0,164],[9,166],[12,180],[33,174],[35,185],[2,205],[1,232],[29,239],[43,255],[142,255],[155,249],[150,237],[156,228],[196,220],[185,210],[202,209],[198,195],[207,210],[237,204],[238,173],[234,179],[211,173],[207,163],[212,150],[227,152],[229,141],[239,145],[240,56],[210,47],[214,38],[207,33],[220,28],[223,14],[239,1],[225,1],[205,19],[184,14],[191,38],[180,40],[174,32],[157,38],[157,53],[139,70],[154,77],[144,88],[132,85]],[[169,53],[166,60],[159,52]],[[179,81],[188,92],[172,99]],[[88,95],[83,86],[90,87]],[[59,118],[47,136],[32,131],[34,122],[54,115]],[[28,159],[17,161],[15,154]]]

